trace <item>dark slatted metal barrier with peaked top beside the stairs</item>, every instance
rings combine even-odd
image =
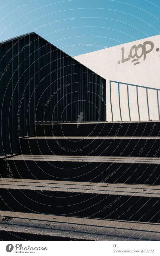
[[[106,121],[106,80],[35,33],[0,45],[0,74],[1,155],[35,121]]]

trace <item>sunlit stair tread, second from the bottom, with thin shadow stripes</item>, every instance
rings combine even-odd
[[[160,187],[157,185],[137,185],[137,184],[112,184],[97,182],[69,182],[33,179],[0,179],[0,189],[28,189],[38,192],[43,191],[63,191],[74,193],[92,193],[106,195],[126,195],[137,197],[160,198]]]

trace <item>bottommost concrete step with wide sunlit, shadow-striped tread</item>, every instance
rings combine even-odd
[[[1,241],[160,241],[160,224],[1,211]]]

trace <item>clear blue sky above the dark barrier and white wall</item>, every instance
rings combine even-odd
[[[0,11],[0,41],[35,31],[71,56],[160,34],[159,0],[6,0]]]

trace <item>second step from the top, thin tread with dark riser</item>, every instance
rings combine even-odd
[[[160,156],[160,137],[25,137],[22,154]]]

